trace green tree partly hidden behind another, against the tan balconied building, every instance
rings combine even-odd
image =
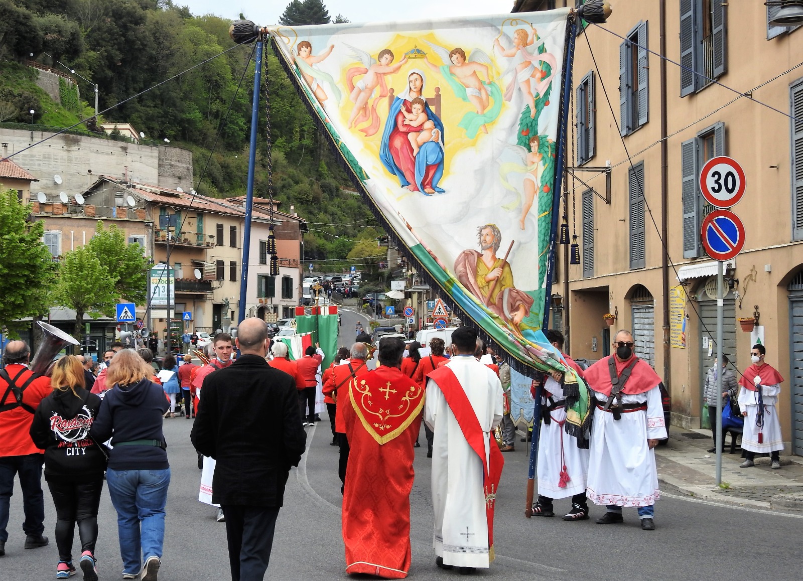
[[[125,233],[116,225],[104,230],[103,221],[98,221],[95,236],[87,246],[100,264],[116,279],[115,291],[121,299],[139,305],[145,304],[148,294],[148,262],[139,244],[127,244]]]

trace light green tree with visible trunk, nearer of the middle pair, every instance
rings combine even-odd
[[[115,290],[117,279],[100,264],[89,246],[81,246],[64,255],[59,268],[59,283],[53,300],[61,307],[75,311],[73,337],[79,341],[84,335],[84,315],[97,319],[112,317],[119,296]]]

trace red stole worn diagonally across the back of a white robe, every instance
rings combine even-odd
[[[488,522],[488,558],[493,560],[494,555],[494,505],[496,493],[499,490],[499,480],[502,477],[502,467],[504,457],[499,451],[499,446],[495,441],[491,441],[491,434],[487,436],[483,433],[482,426],[479,425],[477,414],[471,407],[463,386],[460,385],[457,376],[448,367],[444,366],[428,373],[427,377],[434,380],[446,398],[446,404],[454,414],[454,418],[463,431],[468,445],[475,451],[479,459],[483,462],[483,490],[485,492],[485,514]],[[485,442],[488,442],[490,449],[490,461],[485,459]]]

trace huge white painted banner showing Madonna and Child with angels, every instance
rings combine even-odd
[[[520,364],[540,332],[569,10],[276,26],[275,52],[397,242]],[[412,13],[410,14],[412,15]]]

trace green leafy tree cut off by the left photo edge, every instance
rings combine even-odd
[[[47,313],[55,270],[42,242],[44,222],[28,221],[30,215],[16,190],[0,192],[0,327],[14,335],[24,327],[18,319]]]

